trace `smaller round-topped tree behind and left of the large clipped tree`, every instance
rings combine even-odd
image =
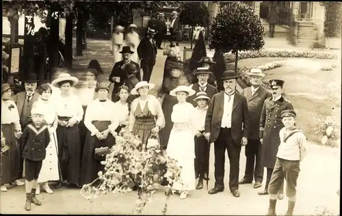
[[[181,8],[179,21],[182,25],[189,25],[192,27],[191,32],[191,49],[192,49],[192,35],[196,26],[207,27],[209,25],[209,9],[203,2],[187,2]]]

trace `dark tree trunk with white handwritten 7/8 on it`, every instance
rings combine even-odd
[[[34,14],[25,16],[24,27],[24,56],[23,56],[23,76],[33,72],[34,61]]]

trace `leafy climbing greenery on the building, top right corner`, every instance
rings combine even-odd
[[[324,35],[326,38],[340,38],[342,27],[342,3],[328,1],[323,3],[326,8]]]

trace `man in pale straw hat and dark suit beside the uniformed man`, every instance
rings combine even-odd
[[[259,68],[252,68],[248,72],[252,86],[243,90],[243,95],[247,99],[248,111],[250,116],[250,130],[248,135],[248,145],[245,148],[246,170],[245,176],[239,181],[240,185],[250,184],[254,176],[254,188],[261,187],[263,182],[263,167],[261,166],[261,142],[259,139],[260,116],[263,103],[272,95],[261,87],[265,74]],[[255,167],[254,167],[255,162]]]

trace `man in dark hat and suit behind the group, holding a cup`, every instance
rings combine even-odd
[[[123,85],[127,79],[127,74],[124,72],[124,68],[127,64],[135,64],[135,67],[137,68],[135,77],[137,77],[139,81],[142,80],[139,64],[137,64],[137,62],[131,61],[131,55],[134,53],[131,51],[131,46],[122,47],[122,51],[120,51],[120,53],[122,53],[122,61],[116,62],[116,64],[114,64],[111,74],[109,75],[109,81],[114,83],[113,93],[111,94],[111,101],[113,102],[120,100],[117,94],[119,87]]]

